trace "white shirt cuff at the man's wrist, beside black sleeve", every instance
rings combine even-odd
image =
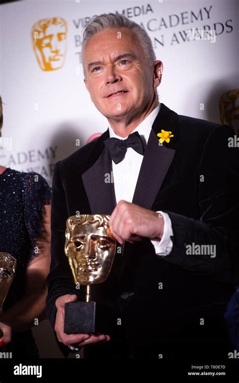
[[[161,211],[157,211],[156,213],[161,213],[163,216],[163,236],[161,240],[151,240],[151,243],[154,245],[156,255],[164,257],[170,254],[173,246],[172,240],[170,238],[170,236],[173,235],[172,223],[167,213]]]

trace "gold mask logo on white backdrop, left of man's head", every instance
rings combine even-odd
[[[42,71],[55,71],[64,66],[67,32],[67,22],[62,17],[41,19],[33,25],[33,49]]]

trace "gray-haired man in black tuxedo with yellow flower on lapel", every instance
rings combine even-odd
[[[226,358],[223,313],[239,278],[233,132],[159,103],[162,62],[123,15],[86,25],[82,57],[85,86],[109,125],[54,169],[47,313],[57,342],[65,355],[88,346],[89,358]],[[85,295],[64,253],[66,220],[77,211],[111,215],[122,250],[91,290],[104,312],[101,335],[64,333],[65,303]],[[215,257],[187,254],[192,243],[215,245]]]

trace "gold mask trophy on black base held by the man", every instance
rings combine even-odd
[[[106,214],[81,214],[67,220],[65,254],[75,284],[86,286],[86,300],[65,304],[66,334],[100,332],[96,302],[90,300],[90,286],[103,283],[113,264],[116,239],[108,226],[109,219]]]

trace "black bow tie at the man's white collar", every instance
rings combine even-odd
[[[104,141],[104,145],[115,164],[118,164],[123,160],[126,155],[127,148],[129,147],[142,156],[144,155],[144,144],[139,132],[131,133],[126,140],[120,140],[115,137],[107,138],[107,140]]]

